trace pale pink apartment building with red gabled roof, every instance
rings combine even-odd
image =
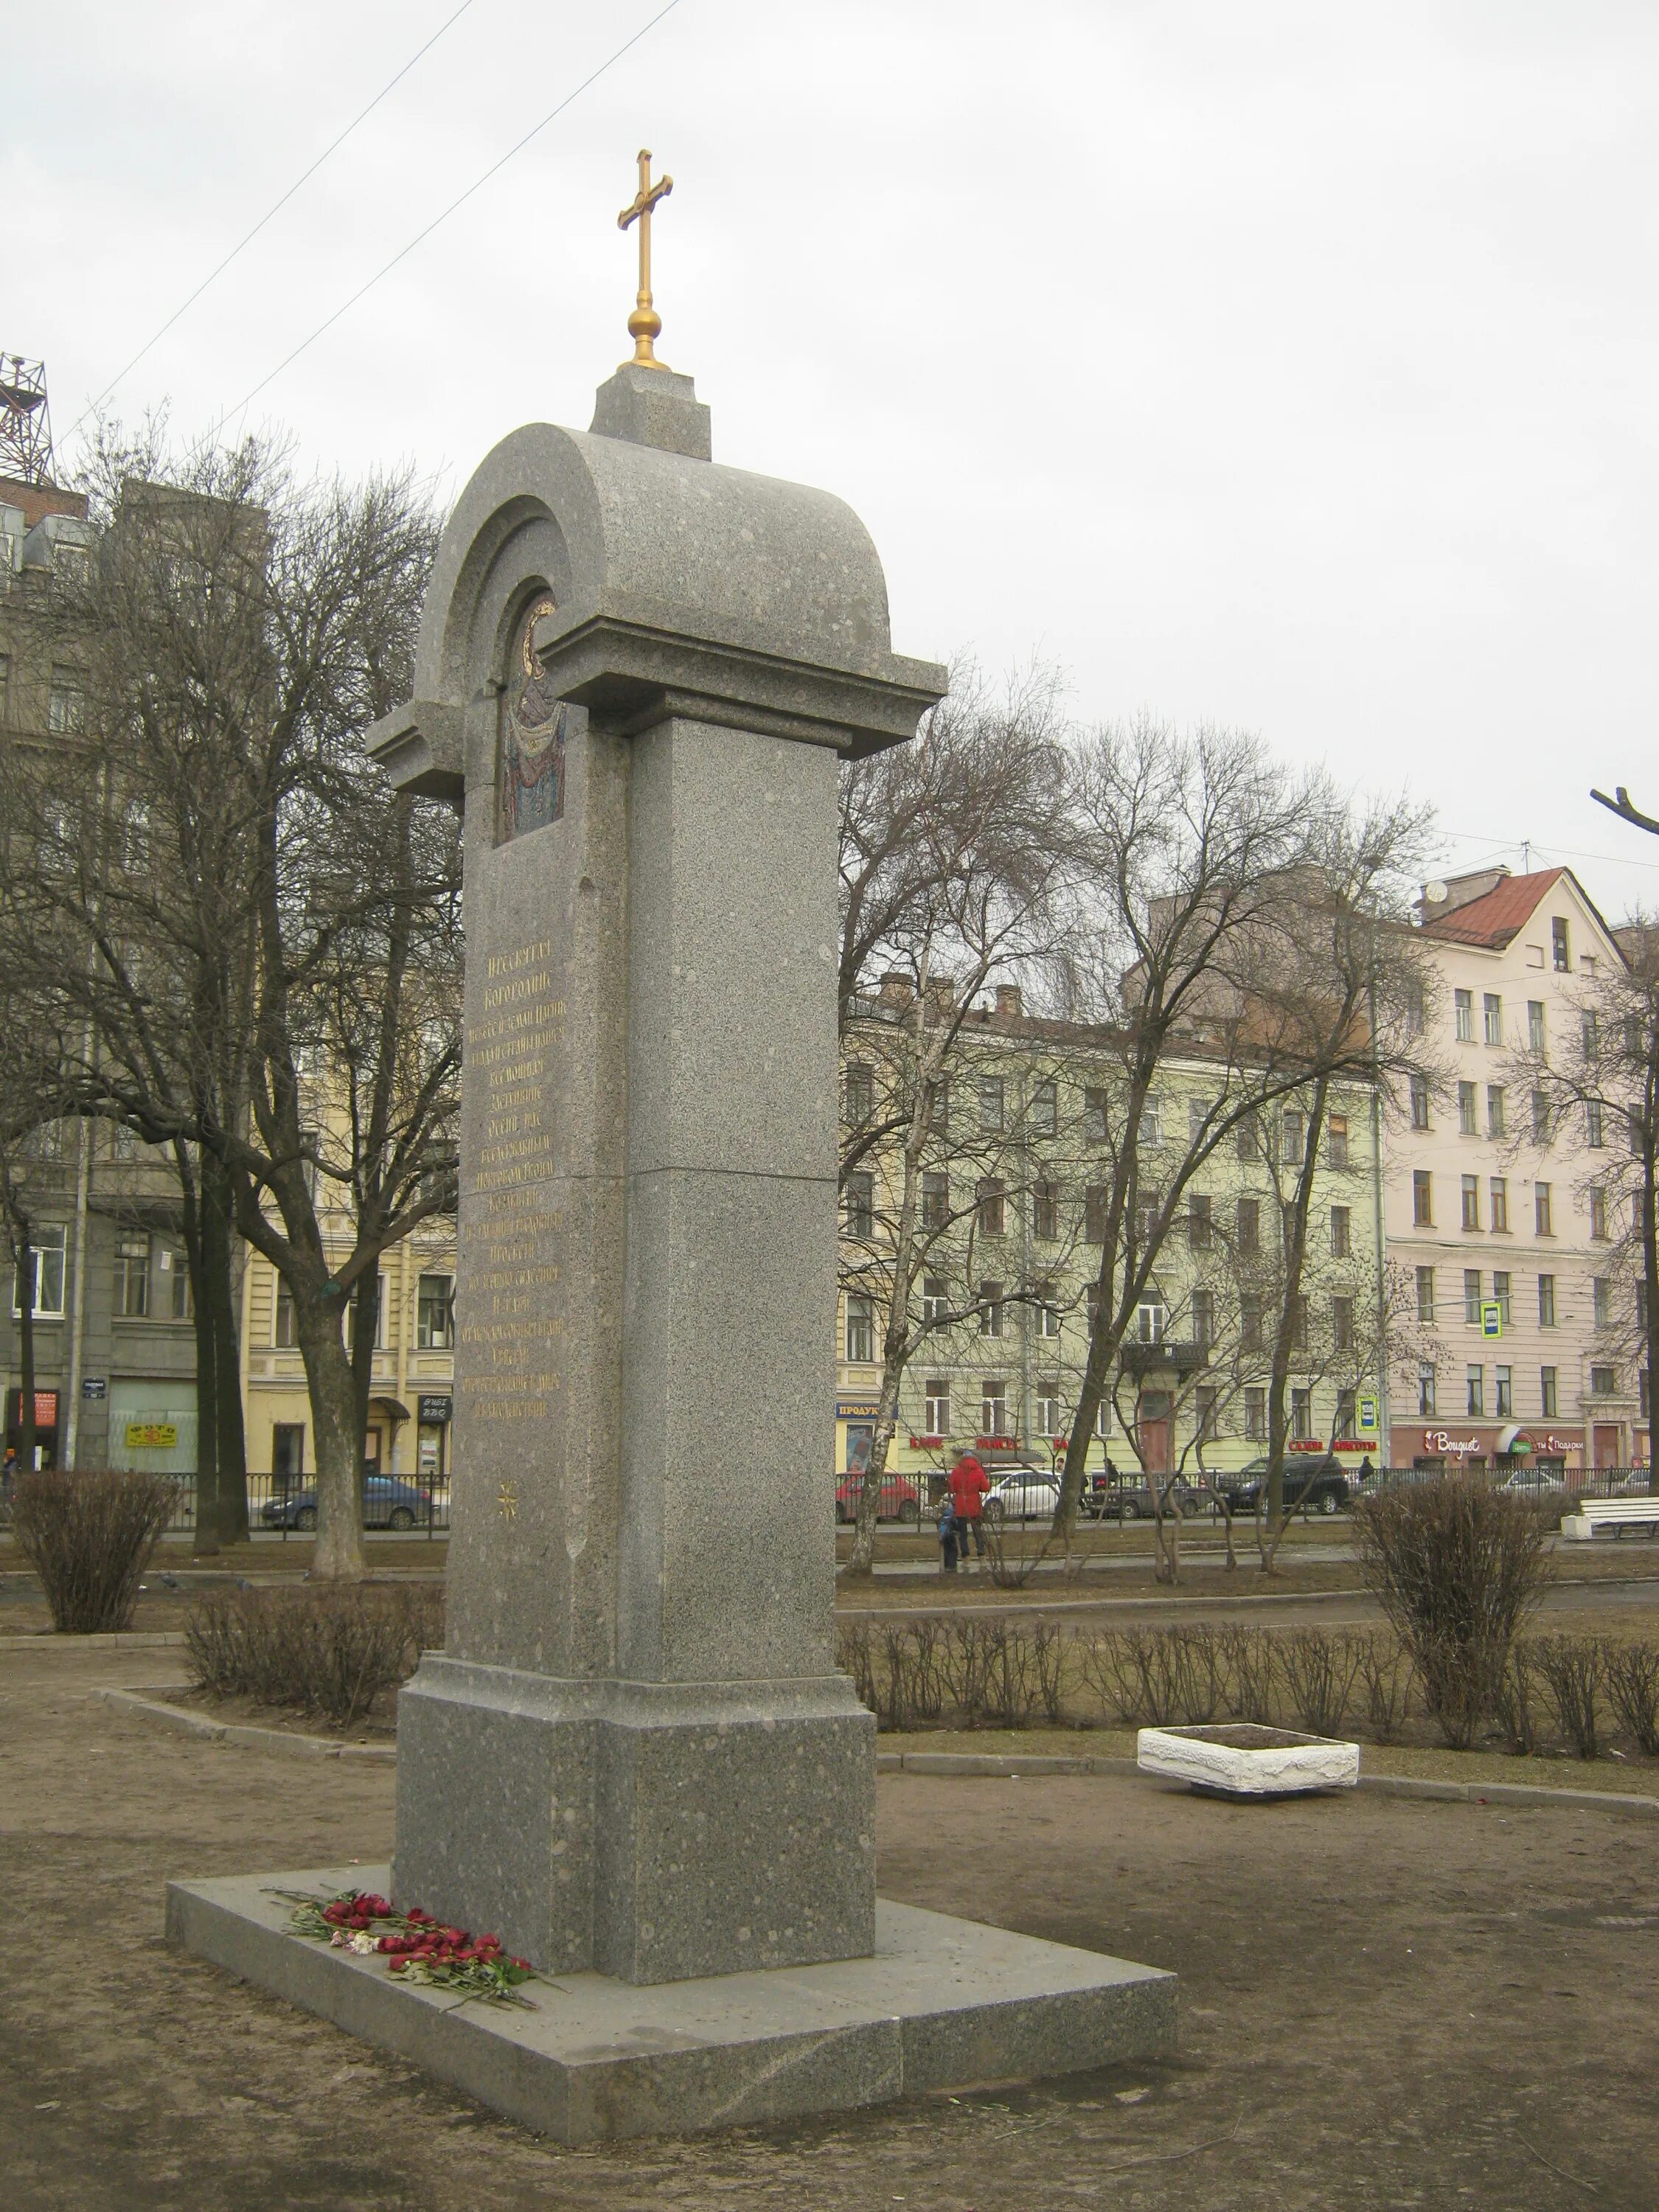
[[[1624,1135],[1601,1110],[1553,1115],[1528,1075],[1582,1035],[1624,956],[1564,867],[1431,883],[1418,911],[1438,982],[1425,1060],[1444,1073],[1411,1082],[1387,1146],[1387,1254],[1420,1327],[1389,1376],[1391,1458],[1632,1467],[1641,1376],[1608,1345],[1601,1188]]]

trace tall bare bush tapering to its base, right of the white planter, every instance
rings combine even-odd
[[[1354,1524],[1365,1586],[1411,1652],[1440,1734],[1467,1750],[1548,1579],[1544,1520],[1522,1498],[1444,1475],[1360,1498]]]

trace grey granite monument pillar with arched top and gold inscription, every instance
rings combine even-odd
[[[467,812],[449,1639],[400,1699],[396,1891],[666,1982],[874,1942],[836,757],[945,677],[841,502],[706,458],[690,378],[619,372],[599,425],[484,462],[372,739]]]

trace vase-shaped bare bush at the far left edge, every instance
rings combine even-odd
[[[40,1575],[60,1635],[111,1635],[133,1626],[137,1586],[179,1493],[166,1475],[18,1475],[11,1531]]]

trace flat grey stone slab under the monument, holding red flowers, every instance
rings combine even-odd
[[[272,1891],[389,1891],[387,1867],[168,1882],[168,1938],[562,2143],[841,2112],[1175,2046],[1175,1975],[876,1905],[872,1958],[635,1986],[526,1984],[535,2011],[411,1989],[290,1936]]]

